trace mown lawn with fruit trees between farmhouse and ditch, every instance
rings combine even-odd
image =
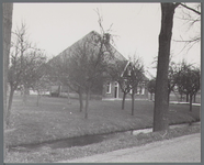
[[[79,112],[79,101],[66,98],[42,97],[36,106],[36,96],[29,96],[26,106],[20,96],[14,96],[11,127],[5,130],[5,143],[20,145],[52,140],[103,134],[152,127],[154,102],[135,100],[135,116],[131,116],[131,100],[121,110],[121,100],[90,100],[89,117]],[[188,105],[170,105],[170,124],[200,121],[200,107],[189,111]]]

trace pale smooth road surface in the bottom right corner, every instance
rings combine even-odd
[[[201,162],[201,134],[191,134],[60,163]]]

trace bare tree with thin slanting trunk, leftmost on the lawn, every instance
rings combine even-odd
[[[8,82],[10,84],[10,95],[8,103],[7,125],[9,125],[9,117],[11,113],[11,106],[13,94],[18,87],[32,87],[33,82],[38,78],[37,68],[45,62],[45,56],[39,50],[32,46],[27,40],[26,26],[22,24],[13,33],[11,47],[11,64],[8,73]],[[25,90],[24,90],[25,94]]]

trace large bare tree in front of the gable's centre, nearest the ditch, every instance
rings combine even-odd
[[[91,32],[90,35],[71,46],[69,56],[69,79],[86,94],[84,118],[88,118],[89,99],[98,79],[106,72],[109,53],[109,40],[104,35]],[[102,84],[101,84],[102,87]]]

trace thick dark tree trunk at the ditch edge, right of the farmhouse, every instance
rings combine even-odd
[[[154,132],[168,130],[168,69],[175,4],[161,3],[161,31],[157,65]]]

